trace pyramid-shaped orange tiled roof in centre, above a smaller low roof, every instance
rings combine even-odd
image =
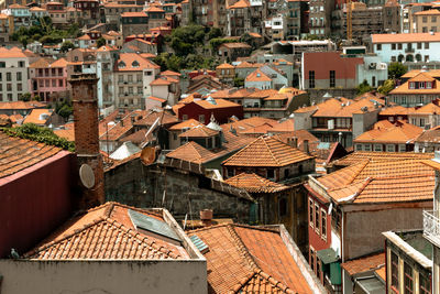
[[[260,137],[222,162],[226,166],[286,166],[312,159],[272,137]]]

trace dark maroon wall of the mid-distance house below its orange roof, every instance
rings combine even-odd
[[[238,117],[239,119],[243,118],[243,107],[228,107],[228,108],[215,108],[215,109],[205,109],[195,102],[187,104],[186,106],[179,108],[178,118],[183,120],[184,115],[188,116],[188,119],[199,120],[200,115],[205,115],[205,124],[208,124],[211,119],[211,113],[213,113],[216,120],[219,123],[227,123],[228,119],[232,116]]]

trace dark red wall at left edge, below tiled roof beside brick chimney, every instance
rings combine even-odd
[[[72,216],[76,156],[62,151],[0,178],[0,258],[25,253]]]

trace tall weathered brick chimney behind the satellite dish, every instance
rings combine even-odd
[[[95,175],[95,184],[87,188],[80,182],[79,209],[89,209],[105,202],[102,156],[99,152],[98,99],[95,74],[73,75],[72,97],[75,118],[75,149],[78,167],[87,164]]]

